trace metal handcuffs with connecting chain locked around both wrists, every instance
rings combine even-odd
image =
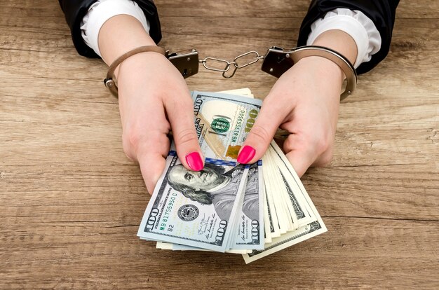
[[[344,92],[342,92],[340,95],[340,101],[351,95],[357,84],[356,70],[351,62],[349,62],[344,55],[323,46],[300,46],[297,48],[292,48],[291,50],[284,50],[281,47],[272,46],[266,51],[265,55],[259,55],[257,51],[251,50],[247,53],[243,53],[242,55],[238,55],[232,62],[215,57],[205,57],[203,60],[199,60],[198,51],[195,49],[180,51],[177,53],[169,53],[168,50],[165,50],[159,46],[140,46],[139,48],[128,51],[128,53],[124,53],[114,60],[114,62],[110,65],[107,72],[107,78],[104,79],[104,85],[112,92],[113,95],[116,97],[118,95],[117,81],[116,77],[114,76],[116,67],[118,67],[119,64],[121,64],[121,62],[126,60],[128,57],[144,52],[154,52],[165,55],[166,58],[168,58],[168,60],[178,69],[178,71],[180,71],[180,74],[182,74],[184,78],[189,78],[189,76],[194,76],[194,74],[197,74],[200,63],[203,64],[205,69],[222,72],[222,76],[224,78],[231,78],[234,76],[237,69],[242,69],[250,64],[255,64],[259,60],[262,60],[262,71],[265,71],[267,74],[271,74],[271,76],[276,76],[276,78],[279,78],[283,73],[285,73],[285,71],[288,71],[288,69],[290,69],[299,60],[302,60],[302,58],[318,56],[324,57],[327,60],[331,60],[337,64],[346,76],[346,87]],[[254,55],[254,58],[249,62],[240,63],[240,59],[243,57],[248,57],[248,55]],[[211,62],[217,62],[218,64],[223,63],[224,69],[212,67],[210,65]],[[229,71],[231,71],[231,73],[227,74]]]

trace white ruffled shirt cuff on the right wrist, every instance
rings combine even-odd
[[[381,36],[374,22],[360,11],[337,8],[325,14],[311,25],[311,33],[306,41],[311,45],[317,37],[328,30],[342,30],[349,34],[357,45],[357,58],[353,67],[370,61],[374,53],[381,48]]]

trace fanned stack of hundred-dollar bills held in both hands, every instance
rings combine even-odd
[[[316,207],[275,141],[262,160],[236,162],[261,108],[248,89],[192,93],[200,172],[171,145],[137,235],[157,248],[242,254],[250,263],[326,231]]]

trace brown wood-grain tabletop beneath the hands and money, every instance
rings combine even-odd
[[[309,1],[156,1],[163,46],[231,60],[295,46]],[[335,156],[302,181],[328,232],[245,265],[137,238],[149,200],[106,66],[57,1],[0,0],[0,288],[439,288],[439,2],[403,0],[389,57],[341,105]],[[275,78],[253,65],[191,90]]]

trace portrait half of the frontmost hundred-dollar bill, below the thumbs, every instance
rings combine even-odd
[[[192,172],[171,151],[137,235],[226,251],[247,173],[245,165],[212,158],[206,158],[203,170]]]

